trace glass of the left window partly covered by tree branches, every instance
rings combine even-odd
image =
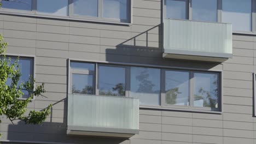
[[[9,58],[7,56],[7,58]],[[17,61],[17,57],[10,57],[11,58],[11,63],[14,63]],[[21,83],[25,83],[27,81],[30,81],[30,76],[32,76],[33,80],[33,58],[27,58],[27,57],[20,57],[19,61],[17,61],[20,69],[20,80],[18,81],[18,86],[20,86]],[[11,85],[11,80],[7,80],[7,85]],[[26,90],[21,90],[24,95],[22,95],[21,98],[29,98],[30,97],[30,92]],[[33,91],[33,89],[31,90]]]

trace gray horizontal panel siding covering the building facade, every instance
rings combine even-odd
[[[256,37],[234,34],[234,57],[221,64],[162,59],[161,4],[160,0],[133,0],[130,26],[0,15],[0,32],[9,44],[8,53],[36,56],[36,80],[38,84],[45,83],[47,98],[37,97],[28,105],[28,110],[42,110],[54,104],[51,115],[42,125],[18,121],[13,125],[1,118],[1,140],[97,144],[255,143],[252,73],[256,68]],[[141,109],[139,134],[130,140],[67,136],[68,58],[223,70],[223,113]]]

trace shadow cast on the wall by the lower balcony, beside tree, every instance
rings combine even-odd
[[[54,95],[53,95],[54,97]],[[26,142],[58,142],[58,143],[123,143],[127,140],[125,139],[111,139],[104,137],[89,137],[89,136],[71,136],[66,135],[67,133],[67,98],[53,103],[53,107],[57,104],[60,104],[64,101],[64,112],[63,116],[58,115],[57,118],[53,115],[54,110],[52,109],[51,115],[47,118],[46,122],[43,122],[40,125],[25,124],[24,122],[17,121],[14,124],[11,123],[2,123],[7,125],[8,132],[4,133],[3,139],[10,141],[23,141]],[[56,122],[59,121],[59,122]],[[7,122],[7,121],[5,121]]]

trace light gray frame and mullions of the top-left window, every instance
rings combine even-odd
[[[120,25],[131,25],[132,23],[132,1],[127,0],[127,20],[123,21],[120,19],[112,19],[106,17],[90,17],[90,16],[77,16],[73,15],[73,0],[68,1],[68,16],[59,16],[47,13],[37,12],[37,0],[32,0],[32,10],[18,10],[18,9],[6,9],[0,8],[1,14],[8,15],[21,15],[21,16],[32,16],[32,17],[46,17],[50,19],[64,19],[64,20],[76,20],[76,21],[91,21],[91,22],[103,22],[103,23],[114,23]],[[98,5],[102,5],[103,0],[97,0]],[[98,9],[98,14],[102,13],[102,9]]]

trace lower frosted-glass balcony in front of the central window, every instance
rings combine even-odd
[[[139,100],[68,94],[68,135],[129,138],[139,131]]]

